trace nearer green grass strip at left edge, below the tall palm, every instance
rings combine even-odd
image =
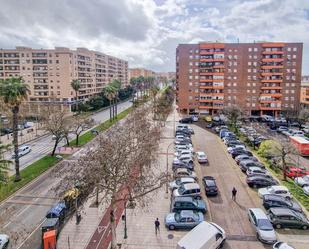
[[[55,156],[45,156],[20,171],[21,181],[14,182],[15,175],[11,176],[7,183],[0,185],[0,202],[24,187],[60,160]]]

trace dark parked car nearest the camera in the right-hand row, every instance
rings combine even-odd
[[[268,217],[276,228],[301,228],[304,230],[309,228],[309,221],[304,214],[288,208],[270,208]]]

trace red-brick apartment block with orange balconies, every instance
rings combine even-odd
[[[240,106],[248,115],[300,107],[302,43],[180,44],[177,104],[186,113],[216,114]]]

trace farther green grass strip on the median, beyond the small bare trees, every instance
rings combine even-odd
[[[98,126],[94,127],[90,131],[85,132],[83,135],[79,137],[78,145],[76,145],[76,139],[73,139],[70,141],[70,146],[71,147],[80,147],[85,145],[86,143],[90,142],[92,139],[96,137],[95,134],[93,134],[93,130],[96,130],[98,132],[103,132],[106,131],[108,128],[113,126],[115,123],[117,123],[119,120],[125,118],[130,112],[132,111],[132,107],[129,107],[128,109],[122,111],[117,115],[117,118],[110,121],[106,120],[105,122],[99,124]]]

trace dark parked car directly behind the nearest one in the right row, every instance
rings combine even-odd
[[[298,203],[279,195],[264,195],[263,206],[267,210],[273,207],[282,207],[294,210],[296,212],[302,212],[302,209]]]

